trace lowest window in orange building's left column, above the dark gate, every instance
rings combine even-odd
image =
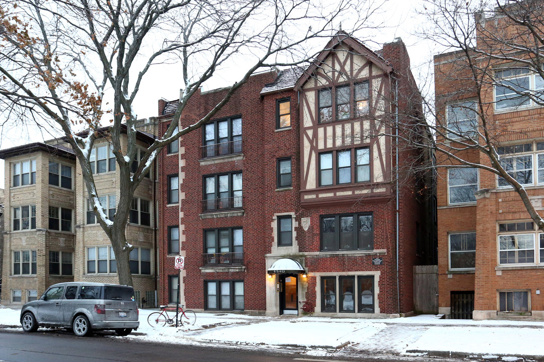
[[[449,269],[473,270],[476,268],[476,233],[451,233],[449,242]]]

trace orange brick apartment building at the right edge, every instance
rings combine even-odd
[[[506,38],[511,40],[523,36],[498,10],[481,19],[480,26],[491,34],[509,34]],[[490,47],[485,32],[478,31],[477,49],[505,55],[504,45]],[[512,59],[519,53],[511,53]],[[438,122],[470,135],[474,125],[479,123],[480,131],[482,126],[474,112],[477,93],[466,77],[470,69],[466,63],[459,67],[465,59],[462,52],[435,56],[435,92]],[[539,165],[544,157],[544,110],[501,85],[526,84],[531,93],[542,79],[511,60],[479,61],[480,69],[485,64],[496,79],[494,86],[491,81],[483,83],[481,104],[497,153],[543,215]],[[490,165],[489,158],[475,149],[457,156]],[[439,165],[455,163],[441,153],[436,157]],[[478,168],[438,168],[437,195],[439,313],[460,319],[543,320],[544,234],[520,195],[504,179]]]

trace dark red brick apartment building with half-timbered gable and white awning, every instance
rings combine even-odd
[[[397,144],[384,135],[395,116],[421,115],[409,56],[401,40],[374,52],[343,34],[325,49],[306,69],[253,75],[212,122],[159,155],[160,303],[179,293],[206,311],[413,310],[429,198],[414,175],[395,187],[416,152],[400,144],[397,168]],[[224,94],[197,92],[180,126]],[[159,131],[177,103],[159,100]]]

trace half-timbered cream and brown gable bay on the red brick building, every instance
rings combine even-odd
[[[388,195],[392,67],[338,35],[299,79],[301,202]]]

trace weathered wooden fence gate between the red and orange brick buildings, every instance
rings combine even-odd
[[[438,313],[438,265],[413,267],[413,309],[418,314]]]

